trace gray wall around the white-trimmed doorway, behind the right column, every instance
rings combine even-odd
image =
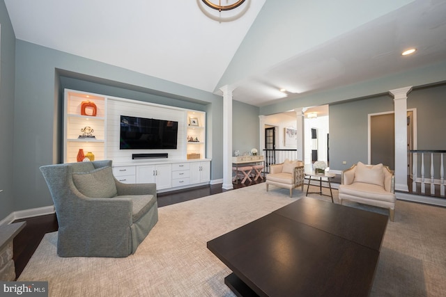
[[[446,150],[445,97],[445,83],[415,88],[408,94],[408,109],[417,109],[418,150]],[[368,114],[385,111],[394,111],[390,95],[330,104],[331,169],[344,170],[357,161],[367,163]]]

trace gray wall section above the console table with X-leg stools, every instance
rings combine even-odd
[[[232,102],[232,148],[243,152],[250,152],[253,147],[259,154],[263,147],[259,147],[259,107],[243,102]]]

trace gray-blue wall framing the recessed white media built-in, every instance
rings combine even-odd
[[[14,141],[15,157],[8,166],[9,174],[13,172],[13,210],[52,204],[38,168],[61,159],[61,88],[65,86],[180,107],[200,106],[213,121],[208,134],[222,135],[220,96],[22,40],[16,42],[15,55],[15,117],[10,134],[14,137],[8,138]],[[223,140],[210,139],[211,178],[220,179]]]

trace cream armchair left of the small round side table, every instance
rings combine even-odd
[[[302,191],[304,191],[304,182],[304,163],[286,159],[284,163],[270,166],[270,173],[266,175],[266,191],[268,191],[268,186],[272,184],[281,188],[289,188],[290,197],[293,197],[293,188],[301,186]]]

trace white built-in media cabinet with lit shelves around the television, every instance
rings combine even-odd
[[[210,159],[206,158],[206,113],[137,100],[65,90],[63,162],[77,161],[79,149],[93,152],[95,160],[113,161],[116,179],[124,183],[157,184],[157,191],[200,186],[210,182]],[[82,102],[93,102],[82,115]],[[176,150],[120,150],[121,115],[178,122]],[[91,127],[94,138],[79,138]],[[167,153],[164,159],[132,159],[132,154]]]

